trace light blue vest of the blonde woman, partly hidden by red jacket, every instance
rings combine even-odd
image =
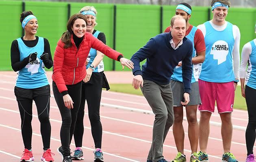
[[[95,38],[98,38],[98,35],[100,34],[100,31],[96,30],[96,32],[93,34],[93,36]],[[91,63],[93,62],[93,60],[95,59],[97,55],[97,50],[96,49],[93,49],[91,48],[90,49],[90,52],[88,54],[88,57],[87,57],[87,60],[89,61],[86,68],[89,68],[89,66],[91,65]],[[103,60],[101,60],[100,64],[95,67],[95,70],[93,70],[93,72],[102,72],[104,71],[104,63],[103,63]]]

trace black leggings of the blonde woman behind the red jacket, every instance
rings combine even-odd
[[[94,74],[94,73],[93,73]],[[98,74],[97,74],[98,75]],[[97,77],[99,77],[97,79]],[[81,104],[76,120],[76,128],[74,131],[74,140],[76,147],[82,147],[82,136],[84,134],[84,114],[85,114],[85,100],[88,105],[88,114],[91,123],[91,134],[95,148],[101,148],[102,143],[102,125],[100,122],[100,100],[102,93],[102,74],[95,76],[94,83],[82,84]]]

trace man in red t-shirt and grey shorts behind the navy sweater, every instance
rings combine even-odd
[[[191,156],[190,162],[199,162],[197,158],[197,146],[199,138],[199,127],[197,123],[197,106],[201,104],[198,77],[199,77],[199,66],[205,58],[205,43],[204,35],[201,30],[197,29],[189,23],[191,18],[191,6],[187,3],[180,3],[176,7],[175,14],[184,17],[186,20],[186,34],[185,36],[193,43],[193,73],[191,79],[191,93],[190,101],[186,106],[187,121],[189,123],[189,142],[191,144]],[[165,29],[165,32],[170,32],[170,27]],[[171,76],[171,90],[174,92],[174,126],[173,134],[175,144],[177,147],[177,156],[172,162],[186,162],[186,156],[184,155],[184,128],[182,125],[183,121],[183,83],[182,83],[182,68],[181,62],[179,66],[174,68],[174,74]]]

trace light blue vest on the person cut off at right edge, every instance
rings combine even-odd
[[[254,40],[250,41],[252,46],[252,53],[248,60],[248,68],[246,74],[245,84],[251,88],[256,89],[256,45]]]

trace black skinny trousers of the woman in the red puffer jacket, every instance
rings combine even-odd
[[[61,118],[62,118],[60,136],[61,136],[61,146],[63,149],[63,156],[70,156],[69,145],[72,140],[74,128],[76,125],[76,117],[77,117],[78,109],[80,107],[82,82],[79,82],[74,85],[66,85],[66,86],[67,86],[68,94],[74,102],[73,109],[67,109],[67,107],[65,107],[62,94],[59,92],[56,86],[56,83],[55,82],[52,83],[54,98],[59,107]]]

